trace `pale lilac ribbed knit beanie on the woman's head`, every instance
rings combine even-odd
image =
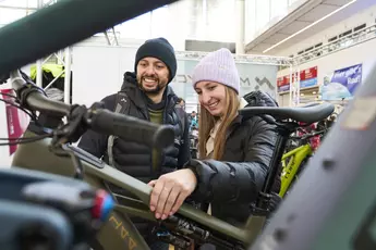
[[[239,93],[240,77],[230,50],[225,48],[219,49],[208,53],[199,61],[193,70],[193,87],[202,80],[210,80],[226,85],[233,88]]]

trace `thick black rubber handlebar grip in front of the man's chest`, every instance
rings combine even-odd
[[[119,136],[124,140],[150,148],[166,148],[174,141],[174,132],[170,126],[154,124],[105,109],[92,111],[89,126],[98,133]]]

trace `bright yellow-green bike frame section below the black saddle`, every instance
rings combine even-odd
[[[312,148],[308,143],[298,147],[282,155],[282,174],[281,174],[281,189],[279,191],[280,197],[284,197],[289,190],[292,180],[295,178],[296,172],[301,166],[304,159],[312,154]],[[289,163],[286,164],[286,160],[289,159]]]

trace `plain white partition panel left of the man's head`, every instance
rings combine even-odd
[[[134,70],[137,48],[121,47],[121,50],[119,48],[73,47],[73,103],[89,107],[93,102],[120,90],[123,73]]]

